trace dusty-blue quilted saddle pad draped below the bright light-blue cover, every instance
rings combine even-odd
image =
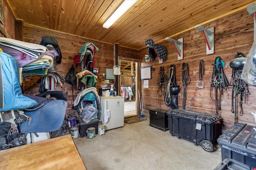
[[[57,131],[62,127],[66,108],[66,101],[51,100],[36,110],[25,110],[24,114],[31,117],[31,122],[30,125],[26,121],[20,124],[21,133]]]

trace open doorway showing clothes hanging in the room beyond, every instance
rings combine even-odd
[[[127,57],[118,57],[121,75],[118,76],[118,90],[124,96],[124,118],[139,115],[138,98],[140,60]]]

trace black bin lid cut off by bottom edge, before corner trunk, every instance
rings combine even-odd
[[[214,170],[253,170],[253,168],[234,159],[226,158]]]

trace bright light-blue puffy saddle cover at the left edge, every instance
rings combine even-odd
[[[0,56],[0,111],[36,106],[35,100],[22,95],[18,62],[6,53],[0,52]]]

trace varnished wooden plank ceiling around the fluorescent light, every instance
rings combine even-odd
[[[245,9],[254,0],[137,0],[109,29],[104,21],[122,0],[4,0],[24,23],[142,49]]]

